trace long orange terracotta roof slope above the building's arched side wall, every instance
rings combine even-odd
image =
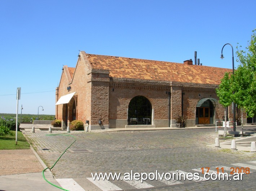
[[[93,69],[106,69],[111,77],[201,84],[220,84],[224,69],[210,66],[87,54]]]

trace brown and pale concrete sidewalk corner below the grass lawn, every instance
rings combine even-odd
[[[0,150],[0,190],[59,190],[43,178],[45,164],[34,149]],[[45,178],[58,185],[52,173],[46,171]]]

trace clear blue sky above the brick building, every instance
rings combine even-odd
[[[1,0],[0,113],[55,114],[62,66],[91,54],[232,68],[248,46],[255,0]],[[236,57],[235,57],[236,60]],[[235,66],[238,63],[235,61]]]

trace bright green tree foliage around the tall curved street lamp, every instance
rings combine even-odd
[[[238,50],[240,63],[235,75],[226,73],[216,89],[220,103],[227,107],[233,101],[247,112],[248,117],[256,114],[256,34],[253,31],[251,42],[246,51]],[[234,92],[234,94],[233,94]]]

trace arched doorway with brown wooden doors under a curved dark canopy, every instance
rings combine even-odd
[[[217,103],[214,98],[200,99],[195,114],[196,124],[214,124],[214,110]]]

